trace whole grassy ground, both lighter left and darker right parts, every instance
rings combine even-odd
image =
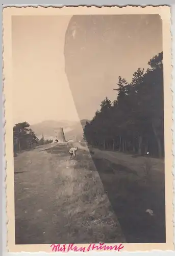
[[[14,158],[16,243],[165,242],[164,173],[151,166],[145,182],[135,162],[83,148],[69,160],[70,146]]]

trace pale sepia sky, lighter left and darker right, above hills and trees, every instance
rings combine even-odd
[[[159,15],[13,16],[13,123],[91,119],[161,51]]]

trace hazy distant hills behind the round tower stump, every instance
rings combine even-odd
[[[45,139],[55,139],[54,130],[58,127],[63,127],[66,140],[81,140],[83,136],[83,127],[87,121],[89,122],[87,119],[83,119],[80,122],[47,120],[31,125],[31,129],[39,139],[42,137],[42,134]]]

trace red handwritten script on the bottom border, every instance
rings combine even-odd
[[[122,244],[119,245],[105,245],[105,243],[99,243],[99,245],[96,244],[89,244],[88,247],[78,247],[74,244],[52,244],[51,245],[52,251],[58,252],[69,252],[69,251],[81,251],[81,252],[88,252],[90,250],[104,250],[104,251],[120,251],[124,248]]]

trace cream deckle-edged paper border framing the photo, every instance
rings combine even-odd
[[[59,9],[59,10],[58,10]],[[7,243],[9,252],[20,251],[45,251],[51,252],[50,245],[15,245],[15,230],[14,230],[14,177],[13,177],[13,133],[12,133],[12,112],[11,112],[11,86],[12,86],[12,49],[11,49],[11,16],[12,15],[73,15],[73,14],[159,14],[162,17],[163,23],[163,52],[166,63],[166,71],[164,66],[164,102],[167,103],[168,109],[165,112],[165,189],[166,199],[168,198],[168,206],[166,205],[166,235],[168,241],[166,244],[124,244],[124,251],[146,251],[146,250],[173,250],[173,205],[172,205],[172,171],[167,173],[167,169],[172,170],[172,93],[171,86],[171,38],[170,38],[170,8],[167,6],[160,7],[6,7],[3,10],[3,61],[4,69],[4,95],[5,95],[5,149],[6,149],[6,199],[7,199]],[[168,36],[168,39],[166,38]],[[165,39],[166,38],[166,39]],[[10,65],[10,64],[11,65]],[[168,112],[171,115],[166,114]],[[168,184],[168,186],[167,186]],[[171,185],[170,185],[171,184]],[[171,200],[170,200],[171,199]],[[85,246],[85,245],[83,245]]]

